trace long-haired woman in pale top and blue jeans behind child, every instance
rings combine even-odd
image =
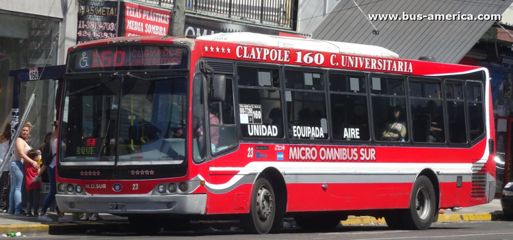
[[[39,170],[39,164],[27,157],[27,152],[31,150],[31,146],[27,143],[27,137],[29,136],[31,129],[30,122],[25,122],[21,127],[21,133],[18,139],[16,139],[16,147],[14,148],[14,158],[10,162],[9,170],[11,172],[11,183],[12,189],[9,195],[10,214],[25,215],[26,213],[21,210],[21,185],[23,183],[23,172],[25,172],[23,163],[26,161],[32,165],[33,168]]]

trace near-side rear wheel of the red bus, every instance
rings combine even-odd
[[[419,176],[413,184],[410,208],[403,215],[404,224],[412,230],[430,228],[436,211],[435,203],[434,187],[430,178]]]

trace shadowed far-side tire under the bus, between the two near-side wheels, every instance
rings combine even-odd
[[[299,215],[294,217],[295,224],[304,230],[333,230],[339,226],[341,217],[339,215]]]

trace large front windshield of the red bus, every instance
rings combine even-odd
[[[62,165],[181,164],[187,77],[68,79]],[[116,146],[117,144],[117,146]]]

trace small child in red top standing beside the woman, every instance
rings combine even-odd
[[[27,152],[27,157],[38,162],[38,151],[31,149]],[[40,170],[36,170],[33,165],[28,162],[25,162],[25,188],[28,193],[27,200],[27,217],[37,217],[39,210],[39,196],[41,194],[41,182],[36,181],[32,182],[36,176],[38,176],[38,172]],[[32,208],[34,207],[34,215],[32,214]]]

